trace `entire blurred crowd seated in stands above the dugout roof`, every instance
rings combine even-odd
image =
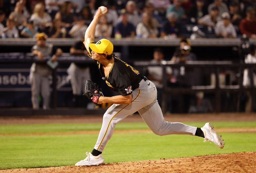
[[[256,38],[250,0],[0,0],[0,37],[83,38],[101,5],[98,38]]]

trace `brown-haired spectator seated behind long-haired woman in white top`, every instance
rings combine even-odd
[[[144,12],[148,12],[150,14],[154,26],[160,26],[160,24],[162,24],[163,19],[155,10],[154,4],[146,2]]]

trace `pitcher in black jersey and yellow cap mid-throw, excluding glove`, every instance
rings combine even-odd
[[[108,140],[111,138],[116,123],[130,114],[138,111],[148,127],[157,135],[187,134],[200,136],[204,141],[214,142],[220,148],[224,147],[223,140],[210,123],[197,128],[180,122],[166,122],[158,105],[156,86],[113,52],[113,44],[107,39],[94,42],[95,27],[99,18],[107,12],[99,7],[91,24],[85,32],[84,44],[93,60],[97,61],[100,74],[107,85],[119,92],[120,95],[99,98],[99,104],[112,103],[103,115],[102,127],[92,153],[86,152],[87,157],[77,162],[76,166],[92,166],[104,163],[101,155]]]

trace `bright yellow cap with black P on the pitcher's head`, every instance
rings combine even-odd
[[[105,53],[107,55],[111,55],[114,49],[113,44],[105,38],[97,43],[90,43],[89,47],[96,53]]]

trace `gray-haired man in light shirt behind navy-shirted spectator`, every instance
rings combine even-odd
[[[136,4],[134,1],[128,1],[126,3],[126,11],[128,15],[127,21],[132,23],[132,25],[136,27],[138,23],[140,23],[140,16],[136,11]]]

